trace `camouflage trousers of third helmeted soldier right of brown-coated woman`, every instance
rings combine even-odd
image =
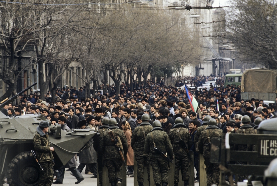
[[[174,184],[179,182],[179,171],[181,169],[182,179],[189,180],[189,157],[175,157]]]

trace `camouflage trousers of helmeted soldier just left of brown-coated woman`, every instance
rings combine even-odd
[[[108,169],[109,182],[115,182],[117,179],[121,179],[120,169],[122,166],[122,160],[120,158],[105,159],[104,164]],[[126,175],[123,175],[126,176]]]

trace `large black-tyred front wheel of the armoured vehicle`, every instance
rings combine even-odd
[[[7,168],[7,182],[10,186],[38,185],[40,168],[31,152],[16,155]]]

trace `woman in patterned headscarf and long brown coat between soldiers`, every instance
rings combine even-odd
[[[128,142],[128,152],[127,152],[128,174],[134,174],[134,151],[131,147],[132,129],[130,127],[130,124],[127,121],[122,122],[122,129],[124,131],[124,134]]]

